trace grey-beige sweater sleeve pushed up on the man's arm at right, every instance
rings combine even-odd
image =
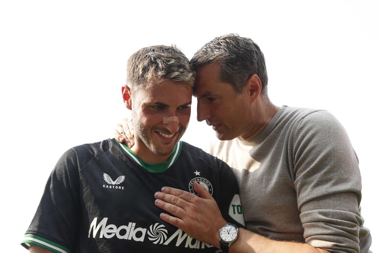
[[[336,253],[359,252],[361,177],[342,125],[328,112],[299,121],[293,177],[305,241]]]

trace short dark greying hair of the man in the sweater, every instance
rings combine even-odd
[[[257,75],[261,79],[262,94],[267,96],[267,70],[263,53],[258,45],[249,38],[238,34],[227,34],[216,37],[199,49],[190,60],[194,70],[219,63],[221,65],[221,81],[232,84],[237,94],[247,79]]]

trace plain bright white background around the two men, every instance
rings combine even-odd
[[[261,47],[276,105],[327,109],[345,126],[378,251],[378,13],[378,0],[2,1],[0,251],[26,252],[20,241],[60,155],[112,137],[127,115],[131,53],[176,44],[190,58],[226,33]],[[192,108],[183,140],[207,145],[212,129]]]

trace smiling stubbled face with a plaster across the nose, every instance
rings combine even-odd
[[[133,152],[145,162],[166,161],[187,129],[191,100],[192,86],[173,80],[150,81],[131,94],[125,102],[132,110]]]

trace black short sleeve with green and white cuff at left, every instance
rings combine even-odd
[[[22,245],[36,244],[53,252],[71,252],[78,231],[79,176],[74,149],[57,162]]]

